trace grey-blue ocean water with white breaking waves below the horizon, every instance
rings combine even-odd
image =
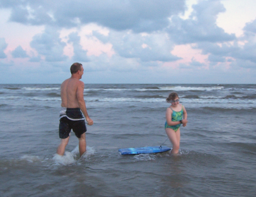
[[[180,153],[122,156],[119,148],[171,147],[172,91],[188,112]],[[0,196],[255,196],[256,85],[86,84],[87,151],[60,139],[60,85],[0,85]]]

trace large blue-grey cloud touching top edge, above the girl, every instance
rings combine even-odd
[[[217,15],[225,11],[220,1],[200,1],[192,7],[193,12],[188,19],[181,19],[179,16],[173,16],[171,19],[167,31],[175,43],[215,43],[236,39],[234,34],[225,33],[216,24]]]

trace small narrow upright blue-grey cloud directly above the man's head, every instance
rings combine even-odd
[[[78,33],[71,33],[69,34],[69,43],[73,43],[73,50],[74,50],[74,55],[73,55],[73,60],[74,61],[79,61],[79,62],[88,62],[89,58],[87,57],[87,51],[82,49],[82,46],[80,44],[80,36]]]

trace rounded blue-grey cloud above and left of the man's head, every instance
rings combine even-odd
[[[66,43],[61,41],[59,32],[55,28],[47,27],[43,33],[35,35],[30,43],[39,55],[44,56],[46,61],[64,61],[67,56],[63,55]]]

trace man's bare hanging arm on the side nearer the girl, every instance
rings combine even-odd
[[[93,120],[90,119],[87,110],[86,105],[84,101],[84,82],[79,81],[76,91],[76,98],[79,103],[80,110],[82,111],[82,114],[84,114],[86,121],[88,122],[88,125],[93,125]]]

